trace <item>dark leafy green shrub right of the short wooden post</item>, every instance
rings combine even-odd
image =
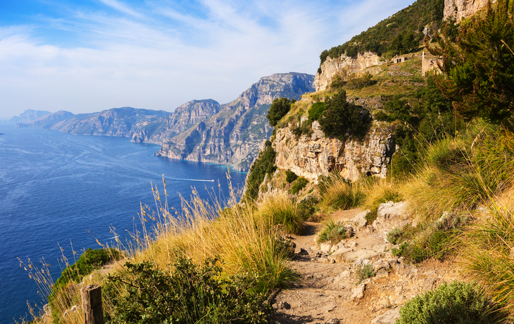
[[[196,266],[180,258],[168,273],[153,263],[125,263],[108,275],[104,294],[111,301],[106,324],[266,323],[270,307],[253,292],[253,275],[222,276],[216,259]],[[107,310],[107,309],[106,309]]]

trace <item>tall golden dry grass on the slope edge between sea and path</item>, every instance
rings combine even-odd
[[[142,206],[140,218],[142,231],[134,233],[133,243],[123,247],[127,258],[115,262],[110,271],[123,270],[125,261],[151,261],[161,270],[172,271],[173,263],[181,256],[191,258],[201,264],[206,258],[220,258],[223,273],[226,275],[255,275],[258,277],[256,289],[267,293],[275,287],[287,287],[299,280],[285,262],[288,251],[282,248],[280,232],[272,224],[272,218],[265,218],[249,204],[238,204],[240,192],[230,186],[230,197],[225,204],[213,197],[210,204],[199,197],[196,189],[188,201],[182,197],[182,208],[176,211],[168,207],[164,182],[161,197],[157,187],[152,187],[156,208]],[[294,206],[291,204],[291,206]],[[153,220],[155,228],[147,229],[146,223]],[[68,260],[63,259],[68,265]],[[39,285],[44,296],[51,292],[51,279],[48,265],[37,268],[31,261],[21,266],[30,270],[30,276]],[[58,309],[54,309],[61,323],[82,323],[80,287],[88,284],[101,285],[108,270],[95,271],[84,277],[80,284],[70,283],[70,289],[58,296]],[[77,305],[75,311],[70,311]],[[104,309],[111,309],[111,301],[104,297]],[[44,320],[42,313],[32,307],[32,316]],[[64,314],[66,313],[66,316]],[[21,320],[28,323],[27,320]]]

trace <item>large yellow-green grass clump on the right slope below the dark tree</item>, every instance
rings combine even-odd
[[[410,210],[424,219],[471,211],[513,182],[514,150],[497,127],[477,123],[455,139],[430,144],[406,186]]]

